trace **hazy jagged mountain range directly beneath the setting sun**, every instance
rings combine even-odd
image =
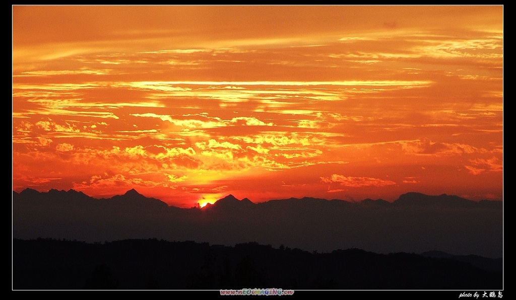
[[[503,255],[503,202],[402,194],[348,202],[312,197],[253,203],[225,196],[204,208],[168,206],[131,189],[96,199],[75,190],[13,191],[13,238],[87,242],[158,238],[234,245],[250,241],[307,251],[442,251]]]

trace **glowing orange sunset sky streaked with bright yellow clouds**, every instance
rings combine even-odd
[[[503,6],[13,6],[12,185],[503,198]]]

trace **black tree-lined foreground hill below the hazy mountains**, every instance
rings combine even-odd
[[[501,260],[487,260],[494,268],[450,255],[357,248],[316,253],[256,242],[13,239],[12,278],[15,290],[503,290]]]

